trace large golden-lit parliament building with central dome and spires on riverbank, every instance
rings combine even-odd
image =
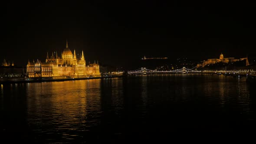
[[[99,65],[92,63],[86,65],[84,53],[80,59],[76,58],[75,50],[74,55],[69,49],[68,41],[66,43],[66,49],[63,50],[59,57],[57,52],[56,56],[52,55],[50,58],[47,52],[46,62],[37,60],[36,62],[28,61],[27,64],[27,76],[28,77],[83,77],[92,76],[100,77]]]

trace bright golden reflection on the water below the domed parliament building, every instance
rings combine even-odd
[[[47,121],[59,130],[86,127],[92,113],[100,112],[100,82],[101,79],[90,79],[27,84],[29,121],[38,125]]]

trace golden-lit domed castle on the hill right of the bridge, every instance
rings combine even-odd
[[[220,59],[207,59],[207,60],[203,60],[203,63],[197,64],[197,68],[201,68],[201,67],[204,67],[205,65],[213,64],[213,63],[217,63],[217,62],[229,63],[229,62],[236,62],[236,61],[245,60],[245,59],[246,59],[246,66],[247,66],[247,65],[249,65],[247,57],[246,58],[240,58],[240,59],[224,58],[223,54],[220,53]]]

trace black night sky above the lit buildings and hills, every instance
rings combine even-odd
[[[144,55],[203,60],[256,50],[255,3],[1,2],[1,53],[17,65],[69,48],[90,62],[131,68]]]

